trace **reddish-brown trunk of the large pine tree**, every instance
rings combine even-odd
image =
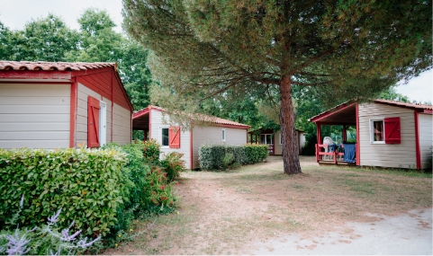
[[[292,102],[292,84],[290,76],[283,77],[280,82],[280,126],[283,142],[284,172],[286,174],[301,173],[299,163],[298,140],[294,128],[294,112]]]

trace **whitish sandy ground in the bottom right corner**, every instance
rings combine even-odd
[[[381,221],[347,223],[337,232],[303,239],[291,234],[257,243],[256,255],[432,255],[432,209]]]

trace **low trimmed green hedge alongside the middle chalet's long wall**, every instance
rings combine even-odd
[[[234,164],[260,163],[267,157],[267,145],[244,145],[244,146],[223,146],[223,145],[204,145],[199,148],[200,168],[203,170],[225,169],[223,163],[227,154],[233,154]]]

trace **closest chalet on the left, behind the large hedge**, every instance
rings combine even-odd
[[[0,61],[0,148],[131,143],[115,63]]]

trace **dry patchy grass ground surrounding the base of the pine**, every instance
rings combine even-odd
[[[176,187],[178,214],[158,217],[147,234],[105,254],[282,254],[276,241],[293,243],[295,254],[318,254],[314,249],[325,243],[347,246],[362,238],[348,222],[431,213],[431,174],[301,161],[303,174],[295,176],[283,173],[278,156],[230,172],[185,172]],[[431,216],[419,218],[416,228],[429,232],[431,252]],[[329,234],[338,235],[325,241]],[[296,239],[287,241],[288,235]]]

